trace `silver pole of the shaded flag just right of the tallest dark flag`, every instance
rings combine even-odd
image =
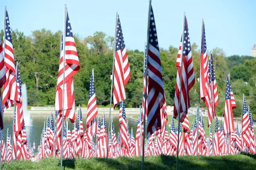
[[[180,101],[181,101],[181,86],[182,86],[182,71],[183,71],[183,41],[184,41],[184,26],[185,26],[185,17],[186,13],[184,12],[184,17],[183,17],[183,26],[182,26],[182,45],[181,45],[181,55],[180,55],[180,86],[179,86],[179,91],[180,91],[180,100],[179,100],[179,111],[178,111],[178,144],[177,144],[177,161],[176,161],[176,170],[178,170],[178,163],[179,163],[179,143],[180,143]]]

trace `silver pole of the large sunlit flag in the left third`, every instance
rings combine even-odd
[[[65,98],[65,53],[66,53],[66,20],[67,20],[67,4],[65,4],[64,10],[64,29],[63,29],[63,91],[62,91],[62,118],[61,118],[61,170],[62,170],[62,159],[63,159],[63,120],[64,120],[64,98]]]

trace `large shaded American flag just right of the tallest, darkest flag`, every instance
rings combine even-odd
[[[177,66],[177,76],[176,76],[176,89],[175,89],[175,102],[174,102],[174,118],[179,119],[178,114],[180,115],[180,122],[183,122],[187,110],[190,107],[189,101],[189,90],[195,84],[195,73],[192,61],[192,52],[190,46],[190,38],[189,38],[189,28],[188,23],[184,20],[184,41],[180,42],[180,47],[178,51],[176,66]],[[181,38],[182,41],[182,38]],[[183,44],[183,52],[181,52],[181,45]],[[181,99],[180,99],[180,74],[181,74],[181,54],[182,54],[182,83],[181,83]],[[179,107],[179,102],[180,107]]]

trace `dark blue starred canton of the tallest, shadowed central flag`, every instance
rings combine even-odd
[[[156,23],[154,21],[154,14],[153,14],[152,6],[151,6],[150,27],[149,27],[149,43],[159,51],[158,39],[157,39],[157,29],[156,29]]]

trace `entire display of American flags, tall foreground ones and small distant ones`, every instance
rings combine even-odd
[[[168,132],[166,126],[168,115],[156,22],[151,4],[149,8],[148,40],[145,44],[144,57],[143,102],[138,116],[135,138],[133,129],[131,129],[131,133],[129,132],[125,114],[125,85],[131,77],[131,71],[119,14],[117,14],[116,18],[114,72],[112,75],[113,106],[120,105],[119,132],[116,134],[113,121],[111,129],[107,129],[105,114],[103,114],[102,121],[99,116],[98,121],[96,120],[98,112],[94,88],[94,70],[92,70],[90,76],[85,129],[83,127],[80,106],[76,120],[73,76],[79,71],[80,63],[70,18],[67,8],[65,9],[64,32],[61,35],[60,65],[55,97],[55,116],[53,118],[51,114],[50,119],[47,118],[44,124],[38,149],[38,159],[56,156],[63,156],[63,158],[116,158],[119,156],[153,156],[160,154],[217,156],[236,154],[240,151],[255,153],[253,120],[250,109],[249,111],[247,110],[245,98],[241,133],[239,133],[238,127],[234,127],[233,109],[236,108],[236,102],[230,84],[230,75],[227,77],[224,123],[221,121],[221,126],[219,127],[218,118],[215,113],[215,107],[218,104],[218,91],[213,54],[210,52],[208,61],[204,21],[202,22],[200,77],[198,79],[199,98],[204,101],[208,109],[207,126],[211,127],[210,130],[212,130],[214,118],[216,118],[216,126],[214,135],[213,131],[210,131],[209,140],[207,141],[204,121],[199,116],[198,108],[197,118],[193,121],[190,130],[187,111],[190,107],[189,90],[195,84],[195,73],[186,15],[184,15],[181,44],[176,61],[177,78],[174,116],[172,117],[170,133]],[[3,86],[3,109],[0,110],[4,112],[15,103],[13,145],[10,154],[12,155],[11,159],[22,158],[26,160],[31,158],[28,157],[30,147],[26,140],[26,128],[23,121],[20,70],[18,63],[15,69],[12,36],[7,11],[5,25],[5,45],[3,49],[0,48],[0,87]],[[0,120],[2,122],[0,123],[1,129],[3,129],[2,112],[1,115]],[[68,126],[67,120],[64,122],[63,118],[69,118],[71,123],[73,123],[72,131]],[[174,126],[174,118],[180,120],[177,128]],[[146,134],[144,134],[145,120],[147,120]],[[145,135],[146,138],[144,139]],[[9,143],[11,144],[11,142]],[[61,150],[62,147],[63,150]],[[8,146],[6,148],[5,155],[9,158],[10,148],[8,149]],[[144,148],[144,153],[142,148]],[[29,155],[32,155],[32,150],[29,152],[31,153]]]

